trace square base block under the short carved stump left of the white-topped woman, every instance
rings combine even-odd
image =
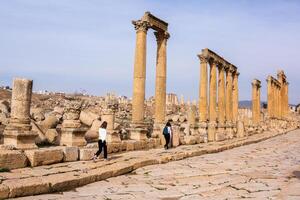
[[[62,128],[60,145],[68,147],[82,147],[87,144],[84,139],[85,128]]]

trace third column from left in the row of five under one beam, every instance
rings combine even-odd
[[[218,67],[218,122],[225,123],[225,69],[223,65]]]

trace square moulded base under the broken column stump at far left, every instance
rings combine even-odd
[[[12,145],[17,149],[36,149],[35,138],[38,133],[34,131],[4,130],[4,144]]]

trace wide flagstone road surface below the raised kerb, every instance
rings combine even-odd
[[[300,199],[300,130],[34,199]]]

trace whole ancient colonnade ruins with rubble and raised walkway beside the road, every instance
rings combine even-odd
[[[277,79],[267,78],[267,107],[261,106],[264,85],[257,79],[252,81],[252,109],[239,107],[238,68],[208,48],[198,55],[199,90],[194,91],[199,92],[198,104],[167,94],[168,23],[150,12],[132,23],[136,30],[132,100],[114,93],[39,94],[32,92],[33,81],[24,78],[15,78],[12,90],[0,89],[0,170],[4,171],[0,199],[70,190],[143,166],[216,153],[299,128],[299,116],[289,108],[282,70]],[[155,96],[146,99],[149,28],[157,39],[157,62]],[[93,163],[104,121],[113,160]],[[173,149],[165,151],[162,129],[167,121],[172,124]],[[126,153],[114,155],[120,152]],[[57,164],[62,162],[74,163]],[[35,168],[43,165],[55,169]]]

